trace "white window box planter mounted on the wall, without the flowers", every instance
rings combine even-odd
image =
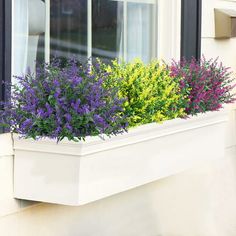
[[[221,158],[226,119],[210,112],[81,143],[14,136],[14,196],[83,205]]]

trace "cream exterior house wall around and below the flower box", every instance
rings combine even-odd
[[[216,6],[236,9],[236,2],[203,1],[202,53],[206,57],[220,56],[236,71],[236,39],[218,41],[213,38],[213,8]],[[167,5],[161,7],[164,9]],[[175,22],[172,18],[171,21]],[[170,35],[175,30],[178,32],[180,28],[174,27],[171,33],[161,28],[160,32]],[[179,41],[178,34],[174,35],[176,42]],[[159,54],[166,59],[173,55],[177,57],[178,48],[171,50],[166,47]],[[1,135],[0,235],[235,236],[234,124],[235,111],[232,108],[224,159],[206,162],[181,174],[81,207],[14,200],[12,140],[7,134]]]

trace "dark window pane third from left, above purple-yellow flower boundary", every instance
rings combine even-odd
[[[123,2],[92,1],[92,57],[123,57]]]

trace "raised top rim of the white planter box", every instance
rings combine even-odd
[[[86,156],[88,154],[119,148],[125,145],[132,145],[139,142],[148,141],[162,136],[173,135],[175,133],[193,130],[227,120],[227,111],[207,112],[191,116],[187,119],[173,119],[161,124],[150,123],[131,128],[127,133],[117,136],[87,137],[85,141],[74,142],[62,140],[57,143],[55,140],[43,138],[40,140],[20,139],[18,134],[13,134],[14,150],[28,150],[38,152],[49,152],[57,154],[67,154],[73,156]]]

